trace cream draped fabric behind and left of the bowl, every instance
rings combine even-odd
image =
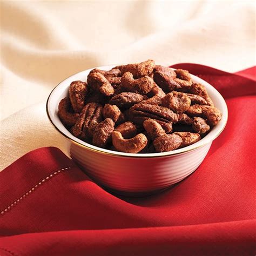
[[[2,1],[0,170],[65,150],[45,101],[73,73],[148,58],[234,72],[255,65],[255,39],[254,1]]]

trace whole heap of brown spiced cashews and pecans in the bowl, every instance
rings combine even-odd
[[[92,145],[127,153],[166,152],[198,142],[221,120],[204,85],[153,60],[93,69],[74,81],[59,118]]]

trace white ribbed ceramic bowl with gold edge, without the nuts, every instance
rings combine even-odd
[[[98,69],[110,70],[113,66]],[[163,153],[134,154],[102,149],[73,136],[58,117],[60,99],[68,95],[72,81],[86,81],[90,70],[79,72],[52,90],[46,103],[46,111],[52,125],[68,140],[70,156],[87,175],[99,185],[127,195],[144,195],[163,190],[190,175],[204,160],[215,138],[227,123],[227,105],[213,86],[191,75],[194,83],[206,86],[213,103],[223,113],[221,121],[199,142],[183,149]]]

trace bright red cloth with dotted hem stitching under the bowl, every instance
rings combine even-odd
[[[228,105],[197,171],[163,193],[120,198],[55,147],[32,151],[0,173],[0,255],[255,255],[255,68],[174,67]]]

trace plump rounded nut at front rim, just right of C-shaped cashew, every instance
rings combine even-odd
[[[178,149],[182,139],[177,134],[164,134],[154,139],[154,148],[157,152],[167,152]]]

